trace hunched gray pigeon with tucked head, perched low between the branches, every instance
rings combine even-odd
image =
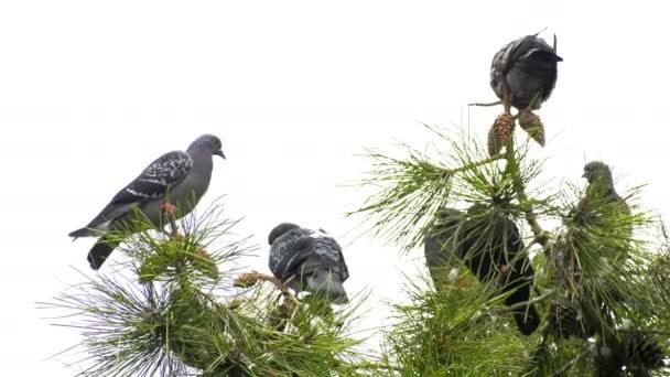
[[[270,270],[295,291],[309,291],[333,303],[348,302],[343,283],[349,278],[342,248],[323,229],[291,223],[275,226],[268,237]]]

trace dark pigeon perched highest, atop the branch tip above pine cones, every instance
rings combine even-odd
[[[526,35],[505,45],[494,55],[490,86],[505,100],[502,77],[507,82],[510,105],[518,110],[540,108],[556,83],[558,63],[563,58],[538,34]]]

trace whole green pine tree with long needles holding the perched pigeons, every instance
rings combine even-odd
[[[122,246],[129,262],[46,305],[71,312],[61,324],[82,330],[91,376],[670,375],[670,244],[638,204],[641,187],[624,211],[584,201],[577,184],[540,184],[536,147],[518,142],[514,126],[501,138],[491,128],[494,149],[429,127],[449,151],[439,159],[409,147],[407,159],[369,153],[363,185],[378,191],[349,215],[396,249],[417,252],[447,227],[445,213],[461,214],[447,222],[456,236],[428,256],[445,273],[435,262],[432,280],[408,278],[409,301],[389,308],[396,325],[379,355],[350,335],[356,303],[333,309],[235,270],[251,248],[219,206],[169,231],[139,231]],[[523,236],[514,255],[499,246],[514,231],[491,230],[500,218]],[[119,239],[149,228],[141,216],[128,227]],[[473,261],[473,250],[496,248]],[[506,280],[519,270],[533,271],[530,286]],[[523,287],[528,300],[511,303]],[[517,325],[531,305],[541,321],[525,335]]]

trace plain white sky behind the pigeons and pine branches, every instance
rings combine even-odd
[[[544,26],[564,58],[540,112],[548,147],[533,147],[548,176],[580,182],[584,162],[603,159],[620,192],[650,183],[647,204],[667,213],[668,11],[619,3],[1,2],[3,374],[77,370],[48,357],[78,334],[35,304],[79,280],[71,266],[88,271],[93,240],[67,233],[205,132],[228,160],[216,160],[203,205],[227,194],[229,216],[246,217],[237,230],[261,246],[252,268],[267,270],[267,235],[291,220],[338,236],[349,292],[398,298],[401,271],[415,268],[380,240],[346,237],[358,222],[343,214],[364,195],[341,185],[369,168],[355,154],[421,148],[421,122],[462,122],[467,103],[495,99],[493,54]],[[497,111],[471,109],[471,127],[484,138]]]

